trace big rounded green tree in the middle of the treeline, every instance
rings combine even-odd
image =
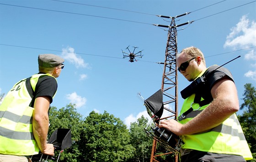
[[[83,127],[80,162],[126,162],[133,156],[128,129],[119,118],[92,111]]]

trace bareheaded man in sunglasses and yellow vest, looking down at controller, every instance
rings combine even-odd
[[[192,84],[182,90],[185,99],[178,121],[162,120],[164,127],[181,137],[181,162],[245,162],[252,159],[240,123],[237,90],[224,67],[206,67],[203,53],[183,49],[178,71]]]

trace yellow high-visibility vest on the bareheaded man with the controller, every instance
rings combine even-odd
[[[199,76],[202,76],[203,72]],[[193,103],[194,98],[195,94],[192,94],[187,99],[185,99],[181,108],[181,115],[179,116],[179,122],[181,124],[185,124],[192,120],[209,105],[201,106],[199,109],[199,104]],[[202,100],[203,98],[201,98],[201,101]],[[186,112],[191,106],[193,111],[186,116],[182,116],[182,114]],[[246,142],[244,133],[235,113],[226,119],[222,124],[214,127],[211,130],[191,135],[183,135],[181,136],[181,139],[184,142],[184,145],[182,146],[183,149],[193,149],[203,152],[223,154],[235,154],[243,156],[245,160],[252,159],[250,148]]]

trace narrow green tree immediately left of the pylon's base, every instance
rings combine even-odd
[[[131,144],[136,149],[130,162],[149,162],[151,157],[153,138],[149,138],[144,131],[148,119],[141,116],[137,122],[131,123],[130,137]]]

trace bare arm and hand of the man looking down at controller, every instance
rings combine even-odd
[[[218,81],[211,90],[213,101],[191,121],[182,125],[175,120],[161,121],[159,127],[165,127],[181,136],[203,132],[224,122],[239,110],[235,83],[224,78]]]

